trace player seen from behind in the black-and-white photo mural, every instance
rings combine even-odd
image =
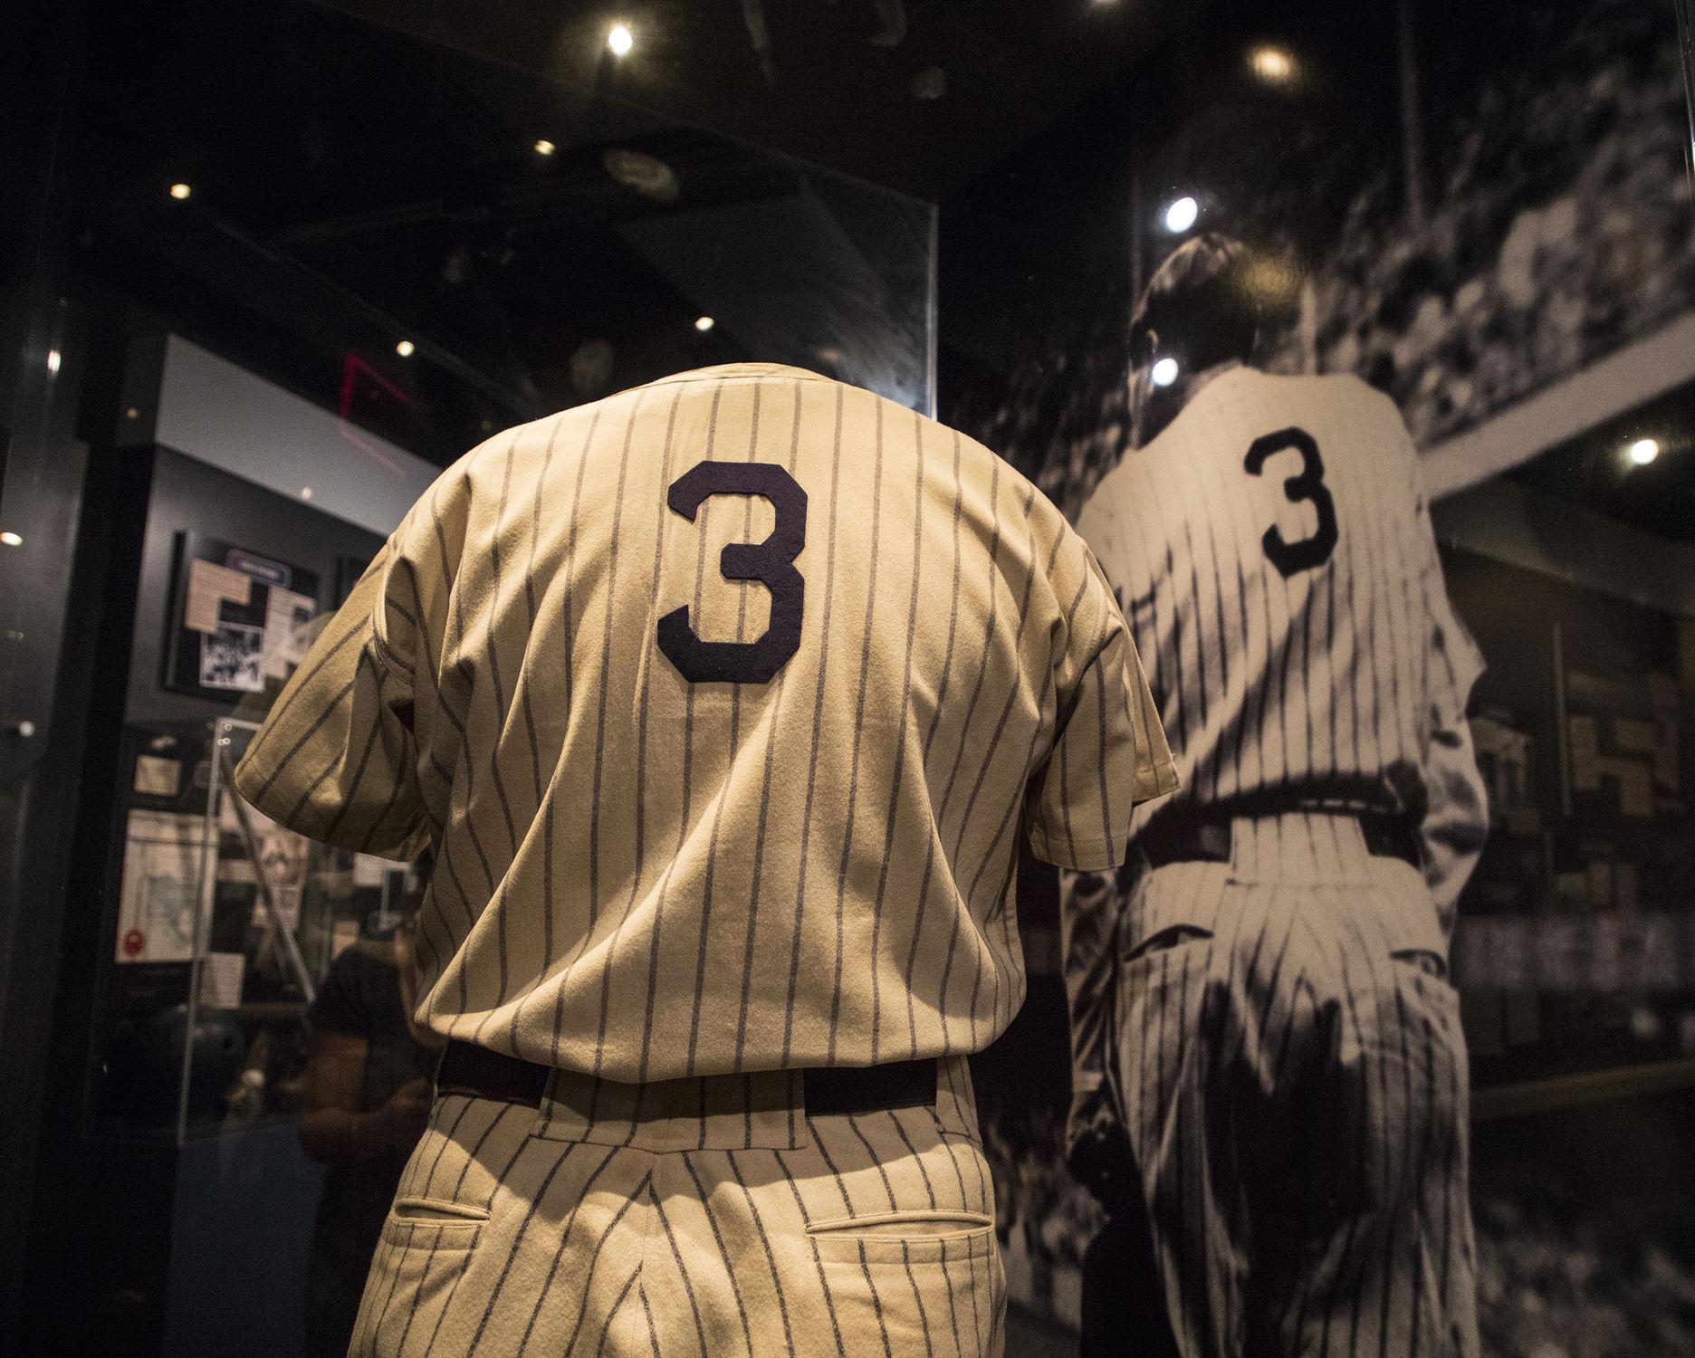
[[[1446,954],[1481,660],[1393,404],[1249,366],[1264,278],[1219,236],[1159,268],[1141,446],[1078,520],[1185,787],[1063,892],[1071,1156],[1110,1202],[1124,1138],[1186,1358],[1475,1355]]]

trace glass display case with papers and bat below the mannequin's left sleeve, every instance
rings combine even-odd
[[[331,963],[400,921],[410,868],[305,839],[236,792],[256,731],[132,732],[97,1131],[185,1143],[297,1114]]]

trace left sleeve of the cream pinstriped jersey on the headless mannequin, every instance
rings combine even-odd
[[[236,788],[278,824],[327,844],[412,860],[429,843],[412,731],[410,614],[395,539],[283,687]]]

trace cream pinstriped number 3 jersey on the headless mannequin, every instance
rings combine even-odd
[[[237,770],[319,839],[437,849],[437,1032],[614,1080],[976,1051],[1017,839],[1122,860],[1175,787],[1083,539],[988,449],[768,365],[449,468]]]

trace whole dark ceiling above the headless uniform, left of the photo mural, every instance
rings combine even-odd
[[[878,309],[927,293],[924,203],[1203,8],[92,0],[81,261],[114,297],[442,461],[705,363],[863,380],[892,356],[848,353],[854,336],[898,339]],[[615,20],[636,39],[624,59]],[[619,181],[609,153],[651,158],[670,195]],[[175,181],[188,202],[166,197]],[[786,261],[763,292],[737,239]],[[347,365],[375,375],[351,405]]]

